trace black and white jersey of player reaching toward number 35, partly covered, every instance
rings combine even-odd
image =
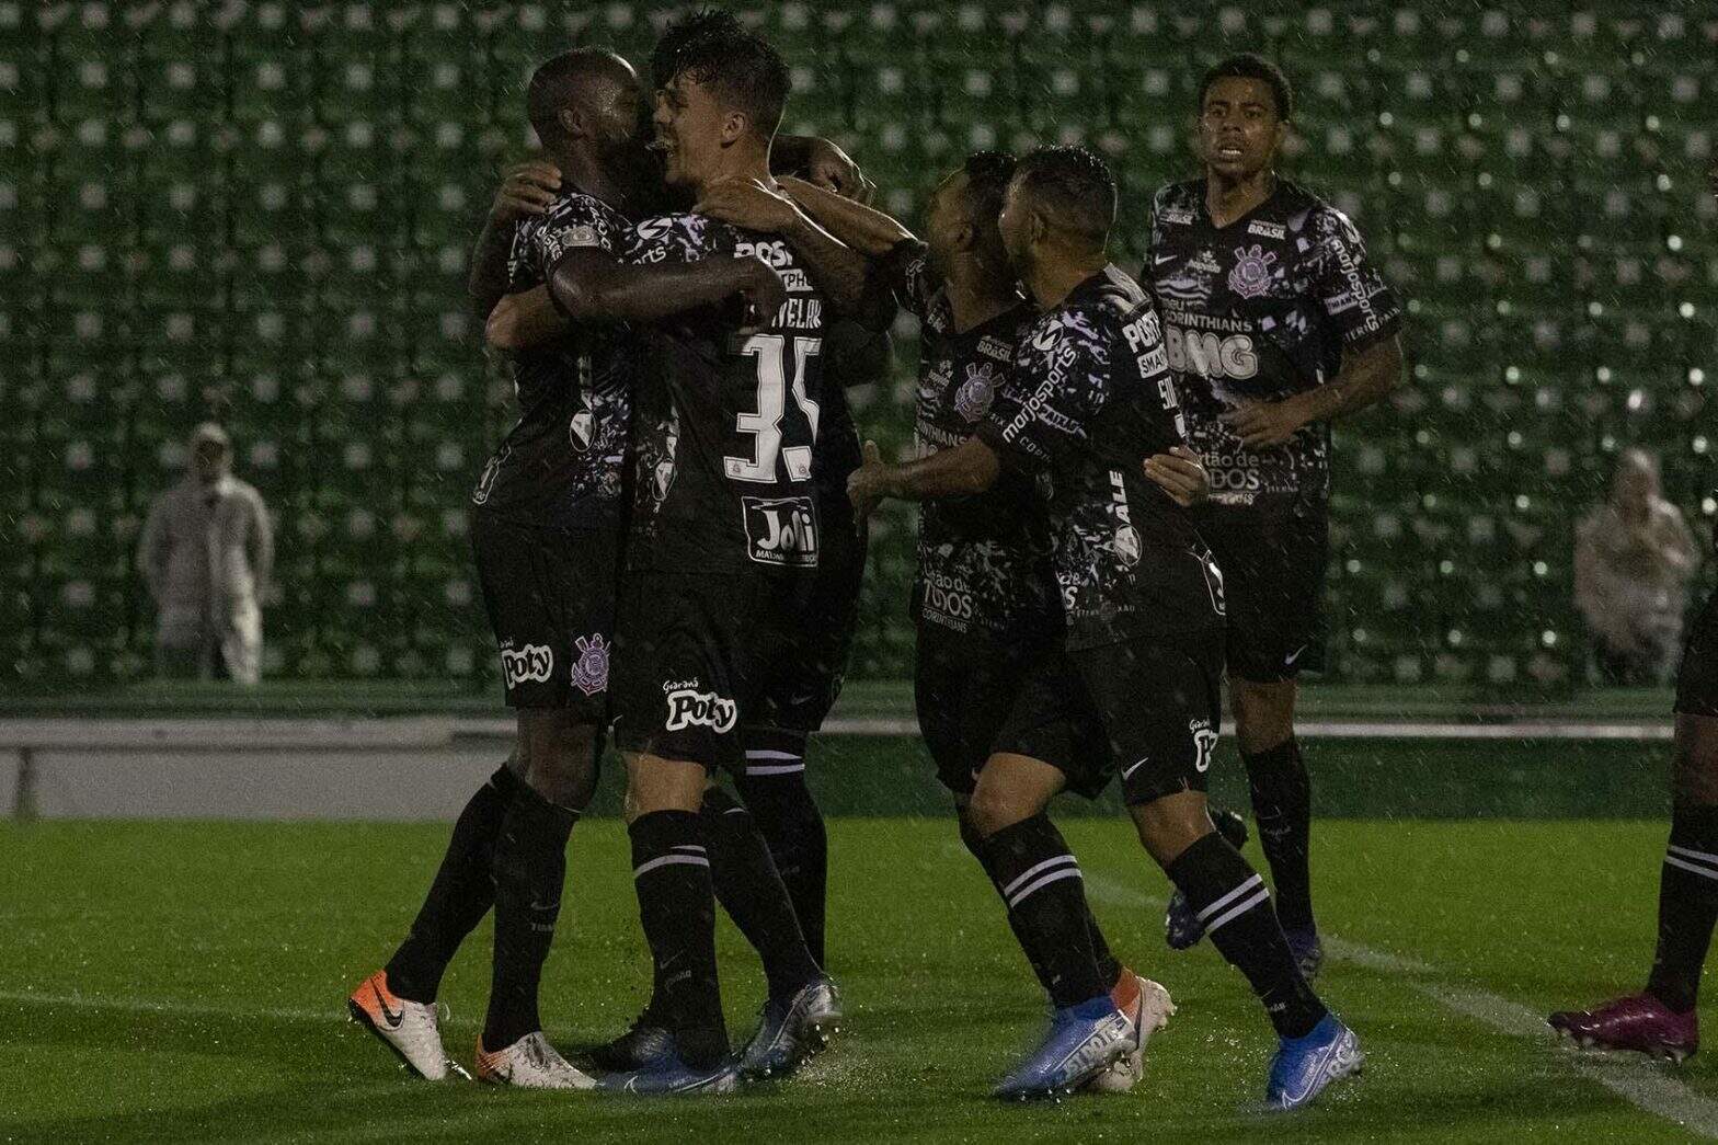
[[[953,308],[929,272],[923,242],[900,242],[880,273],[921,323],[914,450],[924,457],[960,445],[991,413],[1038,311],[1020,299],[955,332]],[[1019,471],[1003,471],[983,493],[928,500],[919,509],[914,619],[955,633],[1041,626],[1057,614],[1050,552],[1045,499]]]

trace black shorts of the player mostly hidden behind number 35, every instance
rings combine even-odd
[[[859,626],[859,585],[864,579],[866,536],[845,517],[819,507],[823,521],[818,571],[804,597],[799,638],[771,665],[756,715],[747,729],[778,729],[809,736],[842,695]]]

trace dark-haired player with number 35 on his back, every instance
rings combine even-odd
[[[754,182],[773,194],[770,143],[787,89],[780,55],[756,36],[710,33],[685,43],[656,98],[668,184],[706,196],[723,182]],[[857,297],[864,273],[799,211],[777,234],[701,213],[649,218],[634,230],[641,265],[752,256],[777,270],[787,299],[751,318],[703,309],[656,327],[639,377],[615,741],[627,760],[634,885],[668,1038],[644,1068],[605,1078],[605,1088],[624,1092],[737,1083],[701,810],[710,774],[740,765],[739,727],[756,708],[765,669],[797,640],[819,552],[811,478],[826,309],[832,297]],[[560,297],[558,275],[551,289]],[[773,875],[766,868],[754,879]],[[746,887],[742,880],[740,894]],[[797,935],[790,908],[773,925]],[[771,964],[771,947],[794,958]],[[782,1025],[814,1026],[838,1013],[833,983],[802,940],[759,949],[771,1001],[785,1002]]]

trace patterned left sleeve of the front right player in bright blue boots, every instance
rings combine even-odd
[[[978,435],[1003,466],[1036,475],[1087,440],[1110,385],[1110,346],[1091,320],[1077,311],[1050,315],[1020,342]]]

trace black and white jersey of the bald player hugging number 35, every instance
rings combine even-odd
[[[521,220],[507,256],[509,294],[548,280],[572,249],[620,258],[629,223],[579,191]],[[519,421],[483,466],[471,502],[527,524],[620,528],[620,483],[632,419],[634,339],[622,325],[577,323],[512,359]]]

